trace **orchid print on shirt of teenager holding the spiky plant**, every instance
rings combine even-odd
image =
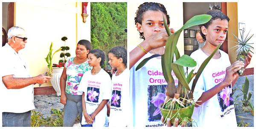
[[[221,107],[221,112],[224,112],[227,107],[230,105],[234,105],[233,101],[233,93],[231,85],[222,89],[222,91],[218,92],[218,101]]]

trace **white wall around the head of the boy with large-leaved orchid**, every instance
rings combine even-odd
[[[128,2],[128,52],[134,49],[138,44],[140,44],[143,39],[140,39],[140,33],[134,23],[134,17],[136,16],[136,11],[140,4],[143,2]],[[167,13],[170,16],[170,28],[176,31],[183,26],[183,3],[182,2],[161,2],[166,7]],[[184,54],[184,43],[183,43],[183,32],[180,34],[180,38],[177,43],[177,48],[180,55]]]

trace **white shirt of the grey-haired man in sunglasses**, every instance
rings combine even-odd
[[[15,52],[8,43],[1,50],[3,63],[1,75],[13,75],[13,77],[30,77],[29,68],[20,52]],[[23,113],[35,109],[33,84],[21,89],[7,89],[3,83],[1,91],[1,112]]]

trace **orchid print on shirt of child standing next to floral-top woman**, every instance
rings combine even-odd
[[[87,101],[98,103],[99,102],[99,88],[87,87]]]

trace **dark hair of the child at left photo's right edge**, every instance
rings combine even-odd
[[[116,58],[122,58],[125,66],[127,65],[127,50],[122,46],[117,46],[109,50],[108,53],[113,53]]]

